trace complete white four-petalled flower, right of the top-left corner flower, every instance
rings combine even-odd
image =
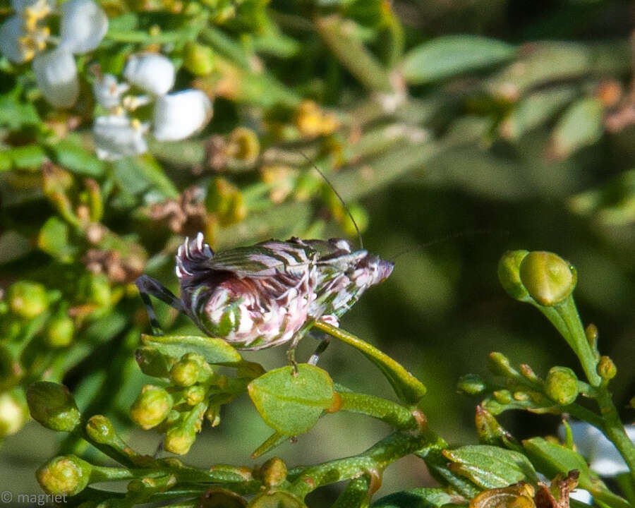
[[[144,135],[150,126],[128,115],[153,101],[152,135],[157,140],[182,140],[205,127],[212,118],[210,99],[200,90],[168,94],[174,85],[175,74],[174,65],[167,57],[146,53],[131,56],[123,75],[130,85],[150,95],[124,96],[130,85],[118,83],[111,74],[105,74],[95,82],[95,99],[110,111],[109,115],[95,119],[93,125],[97,157],[116,160],[146,152]]]

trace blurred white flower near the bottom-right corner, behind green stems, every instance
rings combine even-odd
[[[608,477],[629,471],[617,448],[600,430],[586,422],[571,422],[569,425],[578,453],[588,460],[593,471]],[[629,439],[635,442],[635,425],[626,425],[626,431]],[[564,425],[560,425],[558,434],[564,440]]]

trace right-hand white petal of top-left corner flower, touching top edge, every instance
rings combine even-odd
[[[108,30],[108,17],[92,0],[68,0],[61,6],[60,47],[87,53],[99,46]]]

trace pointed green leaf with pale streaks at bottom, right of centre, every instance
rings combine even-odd
[[[521,480],[536,483],[538,476],[531,462],[519,452],[476,444],[447,449],[450,470],[465,476],[484,489],[507,487]]]

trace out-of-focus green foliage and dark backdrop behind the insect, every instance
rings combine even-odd
[[[154,10],[134,2],[102,4],[112,16],[111,29],[114,20],[123,25],[125,16],[136,16],[139,31],[188,21],[185,11],[170,11],[174,2],[151,2],[158,5]],[[616,405],[625,421],[632,420],[627,409],[635,387],[632,3],[236,5],[233,17],[210,21],[213,31],[199,37],[220,55],[214,71],[198,75],[185,66],[179,73],[182,83],[216,97],[210,126],[196,140],[153,145],[150,155],[114,164],[90,152],[87,104],[50,111],[33,89],[28,68],[0,62],[0,287],[33,279],[60,289],[71,308],[103,308],[92,317],[90,308],[75,322],[73,346],[56,353],[67,363],[37,370],[33,360],[28,365],[34,372],[63,380],[80,409],[106,411],[133,447],[152,453],[159,435],[133,430],[127,417],[127,407],[150,380],[134,364],[136,339],[126,336],[133,325],[147,331],[132,274],[147,260],[145,272],[175,290],[172,255],[181,235],[198,229],[217,248],[270,236],[351,234],[337,199],[296,152],[302,150],[328,174],[361,226],[368,225],[365,248],[395,262],[392,276],[368,291],[341,326],[425,382],[425,413],[446,440],[476,442],[478,401],[458,394],[456,380],[465,373],[485,374],[490,351],[528,363],[540,375],[555,364],[579,373],[555,329],[498,284],[497,260],[517,248],[551,250],[576,266],[583,322],[598,326],[600,351],[618,369]],[[121,66],[114,56],[140,49],[117,40],[108,44],[92,57],[104,69]],[[172,51],[174,59],[186,59],[178,44]],[[257,59],[252,63],[260,71],[241,59]],[[303,99],[315,101],[317,112]],[[27,121],[28,115],[35,117]],[[334,128],[328,115],[337,119]],[[74,128],[68,128],[70,119],[76,119]],[[62,133],[56,131],[60,126]],[[251,159],[253,154],[227,148],[236,147],[234,129],[240,126],[259,138],[260,151]],[[226,159],[214,159],[219,154]],[[53,169],[42,170],[43,163],[50,164],[45,159],[53,161]],[[72,183],[66,183],[66,174]],[[87,227],[73,224],[78,203],[90,204],[87,177],[101,189],[107,245],[91,246]],[[188,219],[180,229],[168,224],[160,205],[148,212],[191,186],[207,190],[202,212],[207,218],[187,215],[182,201]],[[71,212],[60,195],[70,196]],[[49,217],[61,219],[45,229]],[[145,252],[135,253],[138,246]],[[109,273],[116,262],[102,258],[99,270],[91,268],[90,248],[121,253],[117,266],[124,275]],[[94,294],[78,296],[74,284],[90,270],[107,276],[108,303],[87,303]],[[90,284],[94,289],[96,283]],[[164,308],[160,317],[174,320]],[[188,326],[195,331],[177,318],[171,330]],[[38,333],[28,339],[35,357]],[[308,358],[315,344],[303,339],[298,358]],[[286,361],[283,348],[244,356],[267,368]],[[373,365],[344,344],[334,341],[320,366],[337,382],[391,397]],[[559,423],[525,412],[506,413],[501,421],[521,438],[554,433]],[[380,423],[337,414],[274,453],[288,464],[322,461],[361,452],[385,433]],[[250,452],[268,435],[245,398],[230,404],[218,428],[204,425],[185,461],[250,465]],[[0,449],[2,488],[39,492],[33,471],[58,444],[52,431],[33,422],[6,437]],[[405,459],[387,470],[380,495],[421,485],[430,485],[423,462]],[[333,491],[320,492],[313,494],[315,506],[319,496],[333,499]]]

